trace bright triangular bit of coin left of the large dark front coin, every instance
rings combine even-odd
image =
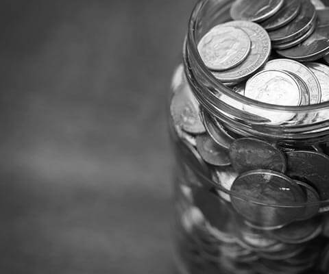
[[[215,181],[219,184],[219,186],[228,191],[231,190],[232,184],[238,176],[239,173],[236,173],[232,166],[215,169]],[[224,192],[223,190],[217,190],[217,193],[226,201],[231,201],[230,194]]]

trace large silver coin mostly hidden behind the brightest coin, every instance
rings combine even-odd
[[[284,69],[289,73],[297,75],[304,80],[309,92],[310,92],[310,104],[320,103],[321,101],[321,87],[319,80],[315,74],[310,71],[306,66],[300,64],[300,62],[289,60],[289,59],[276,59],[267,62],[264,70],[269,69]]]

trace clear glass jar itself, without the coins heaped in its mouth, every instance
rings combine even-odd
[[[178,269],[191,274],[329,273],[329,102],[260,103],[212,75],[197,45],[209,29],[230,20],[231,3],[197,3],[183,64],[173,75],[169,129]],[[215,162],[201,157],[202,138],[221,145]],[[244,169],[232,165],[236,140],[249,149],[258,147],[248,142],[271,146],[271,153],[284,155],[283,166],[269,168],[260,161],[263,156],[244,163]],[[206,154],[212,147],[204,149]],[[237,178],[249,178],[249,185],[239,186]]]

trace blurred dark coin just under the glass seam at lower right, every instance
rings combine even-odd
[[[274,238],[288,244],[300,244],[313,240],[319,236],[322,231],[320,219],[308,219],[306,221],[297,221],[282,227],[282,229],[273,230],[271,233]]]

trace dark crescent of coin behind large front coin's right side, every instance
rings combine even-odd
[[[304,192],[306,192],[306,205],[305,212],[301,218],[296,219],[297,221],[307,220],[312,218],[319,212],[320,208],[320,196],[317,190],[315,190],[309,184],[295,180],[295,183],[299,185]]]

